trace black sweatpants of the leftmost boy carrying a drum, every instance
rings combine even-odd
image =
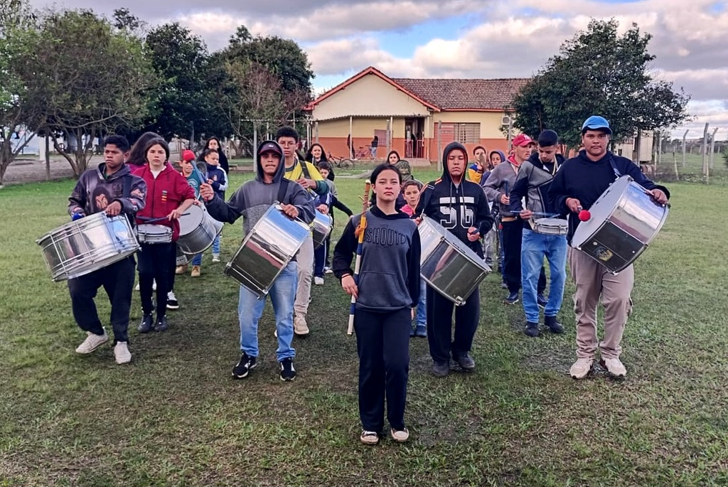
[[[84,331],[103,335],[103,325],[98,318],[94,298],[98,288],[103,286],[111,302],[111,328],[114,330],[114,344],[129,341],[129,309],[134,288],[134,256],[124,258],[98,271],[76,279],[68,280],[71,293],[71,308],[74,319]]]

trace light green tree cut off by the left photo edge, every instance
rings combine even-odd
[[[24,53],[32,52],[29,33],[35,29],[35,15],[23,0],[0,1],[0,187],[7,167],[32,137],[12,144],[12,135],[25,129],[33,118],[28,91],[19,74]]]

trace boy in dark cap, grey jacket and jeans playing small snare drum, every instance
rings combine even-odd
[[[534,220],[539,218],[566,218],[550,204],[548,189],[553,176],[563,164],[564,158],[557,154],[558,135],[553,130],[544,130],[538,138],[537,152],[518,168],[513,189],[510,191],[510,211],[519,215],[523,222],[521,236],[521,286],[523,288],[523,312],[526,314],[528,336],[539,335],[539,302],[537,288],[544,257],[550,266],[551,285],[544,309],[544,322],[553,333],[563,332],[563,326],[556,320],[561,309],[563,285],[566,281],[566,234],[540,233]],[[526,200],[523,209],[521,200]]]

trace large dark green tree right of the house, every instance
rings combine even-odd
[[[513,100],[514,126],[533,137],[555,130],[573,148],[590,115],[609,120],[615,143],[687,119],[689,96],[649,73],[652,36],[636,24],[619,36],[618,26],[614,19],[591,20],[586,31],[562,44]]]

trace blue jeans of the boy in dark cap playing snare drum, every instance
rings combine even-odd
[[[521,286],[523,287],[523,312],[526,320],[539,321],[539,305],[536,301],[539,274],[547,258],[551,285],[545,316],[556,316],[561,309],[563,285],[566,282],[566,235],[539,234],[523,229],[521,240]]]

